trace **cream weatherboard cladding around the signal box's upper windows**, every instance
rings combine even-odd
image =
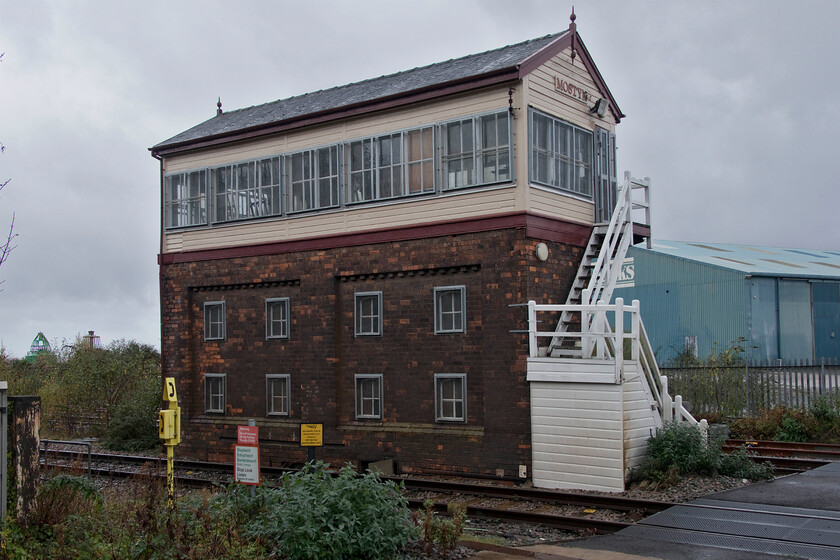
[[[436,196],[377,201],[372,205],[327,210],[318,214],[217,224],[212,227],[187,230],[169,230],[164,233],[163,252],[177,253],[290,241],[371,229],[408,227],[444,220],[487,217],[506,212],[524,211],[548,218],[591,225],[594,213],[591,200],[547,187],[532,186],[530,189],[526,187],[529,161],[527,136],[529,106],[587,130],[593,130],[596,126],[614,130],[614,124],[608,120],[599,119],[596,115],[588,113],[588,105],[593,104],[595,99],[581,101],[557,91],[556,80],[561,76],[564,80],[579,84],[595,99],[600,95],[597,85],[580,61],[571,64],[569,49],[538,67],[519,84],[513,85],[514,98],[516,102],[521,103],[511,123],[514,167],[513,180],[507,184],[512,188],[506,191],[500,192],[498,186],[489,189],[468,189]],[[167,157],[164,160],[164,173],[210,168],[288,154],[331,143],[347,142],[376,134],[441,123],[461,116],[505,109],[509,101],[508,86],[486,88],[442,101],[426,102],[409,108],[368,115],[364,118],[345,119],[269,138]],[[342,185],[342,189],[344,188],[345,186]],[[410,206],[405,206],[406,204]]]

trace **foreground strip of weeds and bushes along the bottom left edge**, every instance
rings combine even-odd
[[[182,496],[170,510],[151,468],[103,492],[61,475],[41,486],[24,523],[7,523],[0,558],[390,559],[419,534],[398,490],[319,463],[254,497],[233,485]]]

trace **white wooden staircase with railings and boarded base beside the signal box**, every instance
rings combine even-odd
[[[610,303],[634,238],[632,211],[649,223],[650,181],[625,180],[609,224],[593,229],[564,305],[528,302],[532,480],[542,488],[622,491],[647,440],[666,422],[697,422],[668,394],[639,302]],[[634,191],[643,200],[634,202]],[[648,223],[642,222],[649,231]],[[637,224],[638,225],[638,224]],[[542,315],[541,315],[542,314]],[[559,321],[540,331],[540,317]]]

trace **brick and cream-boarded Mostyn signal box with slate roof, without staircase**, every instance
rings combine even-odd
[[[215,117],[160,161],[179,452],[529,477],[526,308],[616,205],[616,100],[576,32]],[[553,327],[552,327],[553,328]],[[649,432],[645,432],[647,437]]]

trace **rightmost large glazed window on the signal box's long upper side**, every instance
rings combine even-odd
[[[510,115],[500,111],[441,125],[444,187],[510,181]]]

